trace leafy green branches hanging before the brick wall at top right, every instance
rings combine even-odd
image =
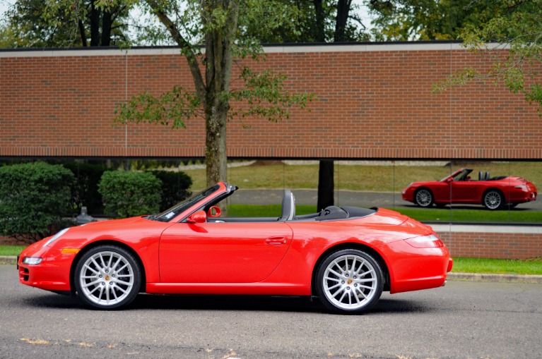
[[[509,1],[512,13],[495,16],[478,26],[466,26],[460,36],[464,46],[491,64],[488,71],[464,68],[434,86],[442,91],[471,80],[502,82],[511,92],[522,93],[538,105],[542,116],[542,0]],[[507,51],[503,51],[507,50]]]

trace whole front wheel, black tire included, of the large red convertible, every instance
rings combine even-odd
[[[84,303],[99,309],[129,305],[141,287],[141,269],[128,251],[100,245],[84,253],[73,273],[76,291]]]

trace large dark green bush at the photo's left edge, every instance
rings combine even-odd
[[[32,243],[65,226],[73,174],[44,162],[0,167],[0,234]]]

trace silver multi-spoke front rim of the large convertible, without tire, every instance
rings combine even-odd
[[[134,287],[134,269],[117,252],[97,252],[83,263],[79,282],[83,295],[91,302],[106,307],[117,305]]]

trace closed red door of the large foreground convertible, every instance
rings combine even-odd
[[[173,224],[160,238],[160,281],[263,281],[281,262],[292,238],[292,229],[283,222]]]

